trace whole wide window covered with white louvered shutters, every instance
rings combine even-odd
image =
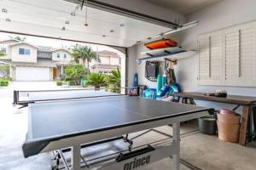
[[[256,87],[256,22],[198,37],[199,84]]]

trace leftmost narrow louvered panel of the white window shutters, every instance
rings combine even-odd
[[[210,77],[210,49],[209,37],[204,36],[198,39],[199,47],[199,81],[208,80]]]

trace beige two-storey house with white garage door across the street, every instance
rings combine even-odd
[[[0,50],[5,53],[0,60],[12,65],[10,77],[15,81],[52,81],[63,76],[64,67],[72,60],[67,49],[17,40],[0,42]]]

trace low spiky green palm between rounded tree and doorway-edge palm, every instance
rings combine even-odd
[[[95,90],[99,90],[101,86],[106,85],[105,76],[101,73],[91,73],[87,77],[86,84],[94,86]]]

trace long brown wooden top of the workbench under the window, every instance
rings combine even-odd
[[[201,92],[185,92],[180,94],[173,94],[182,98],[192,98],[198,100],[214,101],[219,103],[235,104],[235,105],[253,105],[256,104],[256,97],[228,95],[227,97],[208,96],[207,93]]]

